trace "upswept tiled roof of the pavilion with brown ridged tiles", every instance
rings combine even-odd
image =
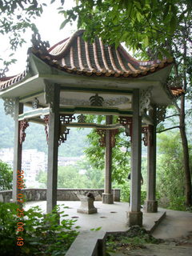
[[[95,38],[94,42],[86,42],[83,39],[83,32],[84,30],[78,30],[48,51],[33,46],[30,52],[49,66],[67,73],[114,78],[141,78],[174,62],[173,58],[165,58],[162,61],[138,61],[121,45],[115,49],[114,46],[104,44],[100,38]],[[21,81],[26,74],[24,71],[10,78],[1,78],[0,90]],[[176,94],[174,90],[174,95]]]

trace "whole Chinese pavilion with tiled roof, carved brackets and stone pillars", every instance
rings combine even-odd
[[[47,211],[57,203],[58,145],[65,142],[69,127],[93,127],[106,147],[105,190],[102,202],[113,203],[111,157],[115,134],[124,127],[131,136],[131,196],[129,225],[142,226],[141,145],[148,148],[147,198],[145,210],[157,212],[156,126],[165,117],[166,106],[181,94],[166,86],[173,59],[138,61],[120,45],[106,45],[100,38],[83,39],[84,30],[47,50],[34,40],[28,51],[27,69],[0,78],[0,97],[6,114],[15,122],[13,200],[17,201],[17,170],[22,166],[22,142],[29,122],[45,126],[48,142]],[[23,106],[31,106],[23,111]],[[75,122],[74,114],[78,115]],[[86,123],[85,114],[102,114],[106,124]],[[113,116],[118,116],[113,121]]]

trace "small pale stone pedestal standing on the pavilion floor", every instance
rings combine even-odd
[[[98,209],[94,207],[94,198],[89,198],[87,196],[78,196],[81,200],[81,206],[78,208],[77,212],[81,214],[96,214]]]

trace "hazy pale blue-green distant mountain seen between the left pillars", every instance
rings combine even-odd
[[[89,132],[90,129],[70,129],[66,142],[59,146],[59,155],[78,157],[84,154],[84,147],[88,146],[86,134]],[[14,119],[5,114],[2,99],[0,100],[0,138],[0,148],[14,147]],[[37,149],[47,153],[45,126],[30,122],[30,126],[26,128],[23,149]]]

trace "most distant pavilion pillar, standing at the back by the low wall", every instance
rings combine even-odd
[[[111,124],[113,116],[106,116],[106,125]],[[102,202],[114,203],[114,195],[111,191],[111,172],[112,172],[112,146],[110,138],[110,130],[106,130],[106,175],[105,175],[105,190],[102,194]]]

